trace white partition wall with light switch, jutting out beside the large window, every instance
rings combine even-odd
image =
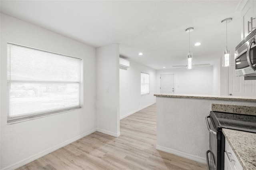
[[[97,48],[96,65],[97,131],[118,137],[120,135],[119,45]]]

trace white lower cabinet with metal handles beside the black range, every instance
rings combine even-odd
[[[225,139],[224,170],[243,170],[230,144]]]

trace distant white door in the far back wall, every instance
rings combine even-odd
[[[160,94],[174,94],[174,74],[160,75]]]

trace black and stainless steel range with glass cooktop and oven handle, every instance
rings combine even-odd
[[[253,115],[211,111],[206,124],[210,132],[210,149],[206,151],[208,170],[224,170],[225,136],[222,128],[256,133],[256,116]]]

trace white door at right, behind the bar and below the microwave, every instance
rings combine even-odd
[[[243,76],[236,77],[235,66],[230,66],[228,72],[229,95],[256,97],[256,80],[244,80]]]

